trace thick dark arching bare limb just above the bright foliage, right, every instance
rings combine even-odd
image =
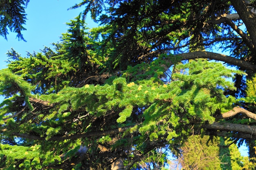
[[[191,60],[196,58],[208,58],[211,60],[218,60],[222,62],[226,62],[235,66],[239,66],[246,70],[256,71],[256,66],[252,63],[236,59],[234,57],[230,57],[228,55],[219,54],[219,53],[212,53],[207,51],[195,51],[190,53],[182,53],[178,54],[178,56],[182,57],[182,60]]]

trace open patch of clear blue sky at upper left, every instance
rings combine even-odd
[[[25,57],[26,51],[40,52],[44,46],[50,46],[52,42],[58,42],[61,33],[65,33],[68,29],[66,22],[70,22],[84,7],[78,9],[70,9],[74,4],[82,0],[30,0],[26,8],[27,22],[24,27],[26,31],[22,31],[23,37],[27,42],[18,41],[16,33],[9,32],[7,40],[0,37],[0,69],[6,68],[7,51],[12,47],[16,52]],[[88,27],[97,26],[92,22],[88,15],[86,22]]]

